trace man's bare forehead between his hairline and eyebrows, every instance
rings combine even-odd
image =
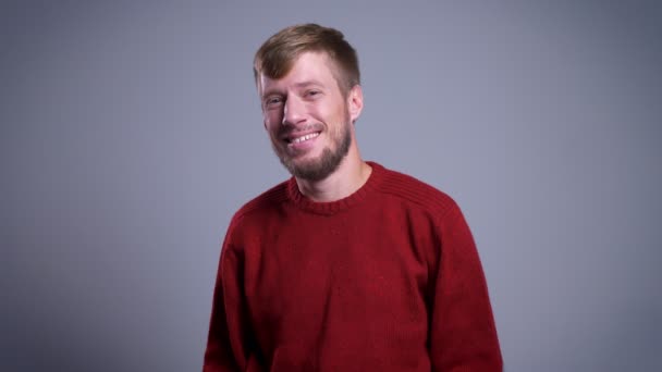
[[[304,52],[293,63],[292,69],[281,78],[270,78],[260,73],[258,79],[260,94],[271,89],[286,89],[304,84],[338,86],[333,62],[323,52]]]

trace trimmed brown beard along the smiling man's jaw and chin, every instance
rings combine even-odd
[[[306,181],[322,181],[338,170],[340,163],[350,152],[350,146],[352,145],[352,131],[350,129],[350,125],[352,124],[350,123],[347,114],[346,117],[344,117],[340,133],[331,137],[331,146],[333,148],[324,148],[322,153],[315,159],[296,161],[296,157],[289,154],[285,149],[278,148],[278,145],[273,139],[271,141],[271,147],[281,161],[281,164],[283,164],[293,176]]]

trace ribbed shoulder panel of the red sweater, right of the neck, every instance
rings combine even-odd
[[[455,200],[439,188],[408,174],[376,165],[381,173],[382,179],[378,189],[382,195],[397,198],[437,216],[458,210]]]

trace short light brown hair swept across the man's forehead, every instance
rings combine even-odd
[[[333,75],[343,94],[360,84],[356,50],[345,40],[343,33],[314,23],[285,27],[262,44],[253,64],[256,84],[260,74],[274,79],[285,76],[298,57],[308,51],[329,55],[335,64],[336,73]]]

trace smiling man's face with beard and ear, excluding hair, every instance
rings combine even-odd
[[[352,145],[352,122],[358,113],[350,106],[354,89],[360,88],[345,97],[332,62],[317,52],[299,55],[280,79],[261,74],[258,84],[265,128],[281,163],[309,181],[333,173]]]

